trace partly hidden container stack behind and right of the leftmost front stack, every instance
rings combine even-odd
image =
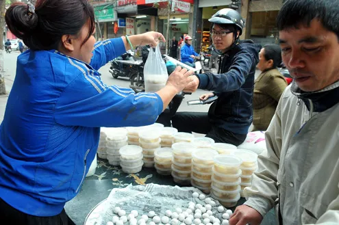
[[[154,167],[154,152],[160,148],[160,129],[142,129],[139,132],[139,144],[144,155],[144,167]]]

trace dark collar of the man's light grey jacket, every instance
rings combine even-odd
[[[292,81],[291,92],[312,112],[322,112],[339,103],[339,81],[317,92],[303,92],[297,83]]]

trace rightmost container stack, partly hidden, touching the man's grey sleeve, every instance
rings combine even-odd
[[[242,164],[240,166],[240,170],[242,170],[240,195],[243,196],[242,191],[245,187],[250,187],[252,185],[252,174],[258,169],[258,155],[250,150],[243,149],[234,151],[233,155],[242,159]]]

